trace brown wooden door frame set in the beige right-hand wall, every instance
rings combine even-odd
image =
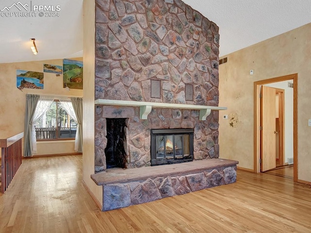
[[[260,80],[254,82],[254,172],[260,172],[260,85],[276,83],[287,80],[294,80],[294,120],[293,120],[293,147],[294,147],[294,182],[298,181],[298,74],[291,74],[282,77]]]

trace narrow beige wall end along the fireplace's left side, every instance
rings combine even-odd
[[[95,1],[83,1],[83,175],[86,184],[97,204],[103,206],[103,187],[91,180],[95,173],[94,158],[94,86],[95,86]]]

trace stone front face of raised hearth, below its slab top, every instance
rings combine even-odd
[[[160,176],[139,182],[103,185],[103,211],[182,195],[236,182],[236,166],[218,167],[200,173]]]

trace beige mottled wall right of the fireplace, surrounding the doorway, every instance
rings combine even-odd
[[[220,112],[220,157],[254,169],[254,82],[297,73],[298,179],[310,182],[311,23],[225,57],[228,62],[219,66],[219,106],[228,110]],[[251,69],[254,75],[249,74]],[[223,119],[225,114],[228,120]]]

